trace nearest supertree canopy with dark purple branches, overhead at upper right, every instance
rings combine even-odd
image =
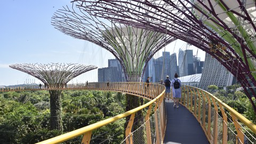
[[[209,53],[243,86],[256,113],[255,1],[75,1],[93,15],[156,30]]]

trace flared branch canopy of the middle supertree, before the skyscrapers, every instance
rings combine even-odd
[[[83,2],[82,2],[83,3]],[[97,44],[120,61],[126,80],[139,81],[147,62],[165,46],[172,36],[100,19],[87,7],[68,6],[55,12],[52,25],[62,33]],[[166,41],[165,41],[166,39]]]

